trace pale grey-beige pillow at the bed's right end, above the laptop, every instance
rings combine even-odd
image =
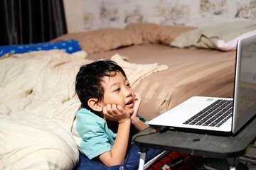
[[[233,23],[216,23],[179,35],[171,46],[201,47],[217,50],[235,50],[238,38],[254,35],[256,22],[237,21]],[[227,47],[228,45],[228,47]]]

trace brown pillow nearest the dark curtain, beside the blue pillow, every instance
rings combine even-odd
[[[81,33],[69,33],[61,35],[52,41],[57,42],[70,39],[78,40],[81,49],[85,50],[88,54],[114,50],[127,45],[142,44],[142,37],[140,35],[121,28],[102,28]]]

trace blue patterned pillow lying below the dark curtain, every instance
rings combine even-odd
[[[79,42],[76,40],[64,40],[58,42],[42,42],[42,43],[34,43],[27,45],[5,45],[0,46],[0,57],[4,54],[11,52],[15,53],[24,53],[24,52],[32,52],[38,50],[53,50],[53,49],[61,49],[65,50],[65,52],[73,53],[80,51]]]

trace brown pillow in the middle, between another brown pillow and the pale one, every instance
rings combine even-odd
[[[170,45],[181,33],[196,28],[191,26],[161,26],[155,23],[130,23],[125,29],[132,30],[142,35],[144,43],[162,43]]]

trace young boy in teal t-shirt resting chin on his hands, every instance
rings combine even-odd
[[[74,128],[80,151],[89,159],[99,158],[106,166],[124,162],[131,125],[137,130],[148,127],[137,116],[141,103],[124,70],[111,60],[84,65],[76,77],[75,91],[82,103]],[[117,125],[117,133],[107,120]]]

